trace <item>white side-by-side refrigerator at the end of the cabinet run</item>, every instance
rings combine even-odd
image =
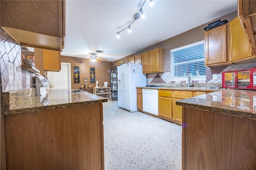
[[[130,112],[137,109],[136,87],[145,87],[146,74],[142,74],[142,65],[126,63],[117,66],[118,107]]]

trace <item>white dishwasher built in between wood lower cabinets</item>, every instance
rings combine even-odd
[[[143,111],[158,115],[158,90],[142,89]]]

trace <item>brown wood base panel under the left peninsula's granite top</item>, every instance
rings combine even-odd
[[[104,169],[102,103],[5,116],[8,170]]]

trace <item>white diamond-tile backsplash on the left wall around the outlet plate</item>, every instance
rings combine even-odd
[[[14,79],[9,78],[9,62],[14,65]],[[34,74],[21,69],[21,46],[0,30],[0,73],[2,92],[33,87]]]

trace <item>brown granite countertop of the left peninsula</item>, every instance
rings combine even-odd
[[[79,91],[79,90],[78,90]],[[108,98],[81,93],[49,93],[36,96],[35,88],[2,93],[2,115],[15,115],[50,109],[107,102]]]

